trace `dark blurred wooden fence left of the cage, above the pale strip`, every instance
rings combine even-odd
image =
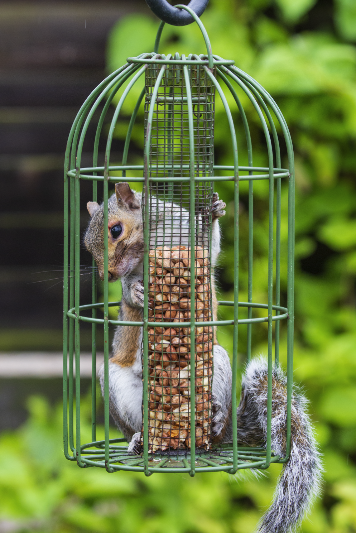
[[[0,2],[2,352],[61,349],[64,149],[106,75],[110,28],[138,9],[149,13],[143,0]]]

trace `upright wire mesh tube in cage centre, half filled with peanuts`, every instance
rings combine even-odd
[[[199,182],[192,191],[191,182],[169,178],[213,175],[215,91],[203,68],[192,66],[184,76],[182,66],[173,64],[154,93],[159,72],[150,65],[145,75],[145,130],[150,132],[145,172],[167,179],[150,182],[144,212],[149,217],[148,320],[159,323],[148,330],[148,449],[184,453],[192,438],[198,450],[211,447],[213,328],[204,322],[213,320],[213,189],[212,182]],[[142,431],[142,445],[143,440]]]

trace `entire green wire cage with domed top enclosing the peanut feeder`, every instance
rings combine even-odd
[[[98,466],[108,472],[139,471],[146,475],[153,472],[188,472],[190,475],[194,475],[195,472],[225,471],[236,473],[239,469],[265,469],[272,462],[286,462],[290,452],[294,318],[294,163],[292,141],[285,119],[268,92],[248,74],[234,66],[233,61],[224,60],[212,53],[206,30],[195,11],[184,5],[175,7],[187,12],[198,24],[205,40],[207,54],[190,54],[188,57],[180,56],[177,53],[167,56],[159,54],[159,41],[165,23],[161,22],[154,51],[128,58],[123,67],[104,79],[80,108],[69,135],[64,172],[64,455],[71,461],[77,461],[80,467]],[[121,164],[112,164],[111,144],[115,127],[121,118],[123,103],[133,85],[142,78],[144,78],[144,88],[128,123],[122,162]],[[225,96],[226,91],[232,95],[234,106],[236,106],[234,112],[238,112],[239,120],[244,128],[248,166],[239,166],[236,128]],[[260,119],[268,167],[254,166],[249,124],[238,97],[239,91],[245,93]],[[104,130],[103,126],[107,124],[108,112],[118,93],[120,96],[114,114],[108,123],[108,130]],[[221,99],[228,120],[233,165],[214,164],[215,97]],[[127,164],[127,160],[131,134],[141,105],[144,106],[143,165],[130,165]],[[82,166],[83,147],[86,146],[87,151],[88,130],[92,125],[94,114],[98,116],[98,112],[99,120],[95,124],[95,139],[91,149],[92,166],[84,168]],[[279,137],[276,124],[278,124]],[[104,131],[108,131],[105,137],[106,150],[104,159],[100,160],[99,141],[105,136]],[[283,149],[287,153],[288,168],[281,168],[279,138],[284,142]],[[134,171],[136,177],[127,178],[126,171],[129,170]],[[140,177],[141,175],[142,177]],[[119,321],[109,318],[109,306],[120,305],[120,302],[109,303],[108,276],[103,278],[103,301],[98,300],[97,274],[94,269],[91,302],[81,300],[79,284],[80,247],[82,245],[80,195],[82,194],[82,201],[83,199],[96,201],[98,197],[102,197],[104,206],[103,227],[106,228],[108,226],[109,189],[114,187],[116,183],[125,182],[127,179],[130,182],[143,184],[144,306],[142,319],[137,321]],[[253,188],[255,180],[268,180],[269,183],[269,228],[268,235],[265,236],[269,244],[268,301],[265,303],[258,303],[253,300]],[[92,198],[83,198],[83,187],[82,193],[80,191],[80,185],[83,181],[92,183]],[[213,184],[219,181],[231,181],[234,184],[234,301],[218,302],[220,306],[233,307],[233,319],[231,320],[218,320],[212,314],[212,215],[208,206],[211,205],[213,198]],[[239,302],[240,181],[248,181],[247,302]],[[285,182],[284,186],[288,188],[287,307],[280,305],[282,181]],[[163,221],[161,215],[159,215],[159,220],[157,218],[157,199],[160,199],[164,205],[176,206],[171,208],[171,212],[169,212],[169,208],[164,209],[166,214]],[[173,213],[174,209],[176,209],[175,214]],[[178,222],[175,220],[176,217],[179,219]],[[159,237],[158,231],[160,224],[164,233],[162,238]],[[179,227],[176,230],[174,229],[175,224]],[[182,230],[182,228],[185,229]],[[168,241],[165,241],[169,232],[170,237]],[[178,240],[175,240],[177,236]],[[104,251],[106,251],[103,258],[103,270],[108,272],[108,233],[106,231],[103,235],[103,245]],[[182,249],[188,252],[185,255],[185,258],[188,258],[188,267],[187,263],[183,264],[182,256],[179,255]],[[167,255],[165,255],[165,250]],[[168,264],[168,270],[163,271],[165,257],[171,258],[174,253],[178,254],[175,265],[172,263],[169,266]],[[166,260],[168,263],[171,261],[171,259]],[[93,266],[95,266],[94,262]],[[171,268],[170,272],[169,268]],[[164,309],[169,311],[172,309],[172,307],[169,308],[169,305],[173,305],[171,302],[173,301],[173,289],[169,288],[167,275],[168,277],[171,276],[169,278],[171,280],[174,277],[176,285],[189,286],[185,288],[186,291],[189,291],[185,293],[186,296],[189,295],[189,298],[181,298],[177,304],[179,306],[181,302],[180,305],[182,306],[184,299],[185,304],[187,304],[185,310],[177,311],[175,320],[172,320],[172,315],[168,314],[167,318],[163,314]],[[163,281],[164,277],[166,281]],[[192,280],[196,281],[193,282]],[[164,306],[164,301],[157,300],[156,290],[158,289],[156,289],[155,284],[157,286],[167,284],[165,286],[168,287],[168,296],[164,295],[164,289],[160,289],[159,292],[161,300],[166,298],[166,306]],[[179,293],[181,286],[176,290]],[[181,297],[180,293],[179,297]],[[152,301],[155,302],[153,311]],[[177,309],[177,305],[175,305],[175,309]],[[247,318],[239,318],[239,308],[247,308]],[[265,310],[265,316],[253,318],[254,308]],[[103,309],[103,318],[98,318],[97,313],[101,309]],[[198,309],[200,309],[199,312]],[[190,310],[195,311],[190,312]],[[169,316],[172,318],[169,319]],[[272,366],[273,359],[277,364],[279,361],[280,320],[287,321],[287,449],[284,458],[275,455],[271,449]],[[83,442],[80,431],[80,325],[82,322],[88,322],[92,327],[92,442]],[[247,328],[247,360],[249,360],[253,325],[258,322],[268,322],[266,449],[238,446],[236,416],[232,417],[232,442],[228,445],[214,447],[209,430],[209,424],[211,424],[211,386],[212,379],[214,379],[212,376],[213,328],[221,325],[229,325],[233,328],[232,413],[236,413],[238,331],[240,327]],[[275,322],[274,333],[273,322]],[[125,439],[115,438],[116,430],[109,426],[109,328],[117,325],[142,328],[143,331],[143,416],[142,453],[140,455],[128,453],[124,443]],[[97,342],[100,328],[103,332],[102,346]],[[162,368],[165,368],[164,361],[167,360],[166,353],[163,357],[163,344],[157,343],[156,333],[152,333],[156,332],[158,328],[163,328],[162,331],[167,331],[167,328],[175,328],[175,334],[184,330],[184,338],[186,338],[188,347],[184,354],[187,365],[189,364],[189,379],[186,383],[186,399],[184,400],[186,411],[184,416],[187,423],[184,425],[184,434],[182,433],[186,439],[184,441],[183,438],[179,437],[179,442],[173,447],[174,449],[171,449],[173,441],[169,441],[168,445],[166,443],[166,448],[171,449],[170,454],[163,453],[165,447],[162,445],[162,431],[158,432],[161,440],[155,441],[156,449],[154,439],[152,439],[152,435],[155,435],[155,427],[152,429],[151,422],[152,419],[157,419],[157,406],[159,405],[159,403],[155,403],[155,400],[153,403],[151,401],[152,394],[157,393],[157,390],[154,389],[156,385],[153,383],[152,368],[157,363],[156,358],[159,359]],[[200,350],[202,353],[197,354],[199,335],[204,337],[204,343],[201,344],[203,346]],[[152,336],[154,337],[153,341]],[[171,341],[172,339],[169,342]],[[96,438],[97,349],[104,352],[104,440],[102,441]],[[160,351],[162,353],[158,353]],[[174,349],[173,351],[177,350]],[[180,361],[180,357],[183,357],[181,353],[175,355],[178,361]],[[154,360],[153,363],[152,360]],[[168,361],[168,366],[169,364]],[[203,374],[201,373],[202,368]],[[202,375],[206,377],[199,377]],[[172,402],[174,394],[172,383],[170,386],[171,390],[167,389],[166,393],[168,400],[170,399],[169,401]],[[184,392],[182,390],[181,393],[183,397]],[[198,396],[199,401],[203,402],[201,408],[198,407]],[[180,410],[179,412],[182,413],[183,411]],[[199,427],[200,433],[198,432]],[[195,435],[195,438],[190,438],[190,435]]]

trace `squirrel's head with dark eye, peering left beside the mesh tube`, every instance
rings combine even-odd
[[[98,265],[104,279],[104,214],[103,204],[88,201],[91,216],[84,244]],[[108,200],[108,276],[109,281],[132,272],[143,261],[143,224],[141,195],[126,182],[116,183],[115,193]]]

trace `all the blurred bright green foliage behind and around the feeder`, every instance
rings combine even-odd
[[[292,23],[302,23],[312,5],[310,0],[278,0],[276,4],[270,0],[211,0],[202,20],[213,52],[234,59],[271,92],[292,133],[297,258],[294,376],[311,400],[310,413],[325,462],[323,497],[314,505],[310,520],[304,521],[302,532],[351,533],[356,530],[356,48],[350,42],[356,39],[356,15],[353,0],[337,0],[332,21],[337,34],[312,30],[310,26],[308,31],[294,33]],[[276,16],[272,18],[273,9]],[[286,22],[279,20],[280,15]],[[157,27],[156,22],[141,15],[118,22],[108,43],[109,69],[121,66],[127,56],[152,51]],[[178,29],[166,26],[160,51],[204,53],[204,41],[195,25]],[[141,87],[127,102],[124,113],[132,109]],[[257,116],[242,95],[241,101],[252,125],[254,164],[263,164],[265,153]],[[247,162],[243,132],[231,99],[229,103],[236,119],[243,165]],[[142,124],[142,114],[140,121]],[[116,132],[120,139],[124,133],[125,128]],[[142,148],[142,139],[139,126],[133,134],[137,148]],[[226,119],[217,100],[217,164],[231,161],[229,142]],[[266,302],[266,185],[254,185],[257,302]],[[216,190],[228,204],[222,219],[224,244],[217,274],[223,298],[232,299],[231,184],[219,184]],[[246,200],[247,186],[241,183],[241,300],[247,297]],[[283,187],[284,205],[285,200]],[[285,210],[281,235],[284,272]],[[110,288],[112,301],[119,299],[119,286],[113,284]],[[283,274],[282,301],[285,298]],[[224,310],[224,318],[229,313],[231,309]],[[231,353],[229,328],[221,329],[220,342]],[[240,329],[239,346],[242,364],[244,328]],[[253,351],[266,352],[265,324],[253,331]],[[282,325],[282,362],[285,358]],[[60,411],[50,413],[38,399],[30,407],[29,422],[0,440],[0,516],[13,523],[11,531],[249,533],[272,498],[279,472],[276,465],[265,478],[244,482],[226,474],[200,474],[193,479],[155,474],[145,478],[142,474],[79,470],[63,458],[59,447]],[[89,440],[90,427],[83,421],[83,438],[86,434]]]

